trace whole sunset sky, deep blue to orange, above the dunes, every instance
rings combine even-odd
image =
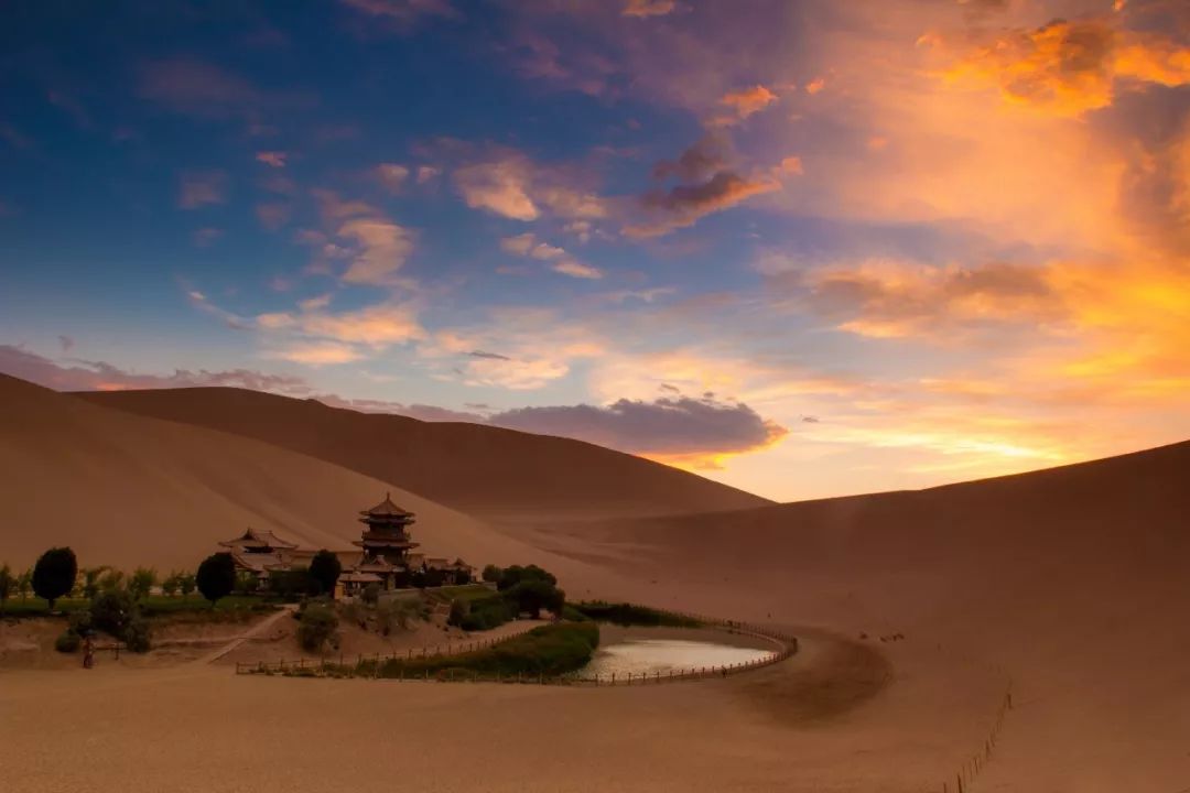
[[[779,501],[1190,438],[1190,5],[17,0],[0,371]]]

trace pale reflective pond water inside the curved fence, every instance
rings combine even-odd
[[[677,638],[625,638],[600,647],[590,663],[580,674],[587,676],[618,676],[627,674],[665,675],[690,667],[728,666],[746,663],[771,655],[772,650],[753,647],[732,647],[708,641]]]

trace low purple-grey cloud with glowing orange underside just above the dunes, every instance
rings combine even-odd
[[[689,397],[619,399],[607,407],[520,408],[489,421],[695,466],[714,466],[722,457],[771,446],[788,433],[746,404]]]

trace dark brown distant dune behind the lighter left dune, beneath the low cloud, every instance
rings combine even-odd
[[[583,441],[425,422],[231,388],[80,392],[138,415],[268,441],[484,518],[706,512],[771,502]]]

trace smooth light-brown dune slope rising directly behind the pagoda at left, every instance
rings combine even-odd
[[[269,443],[138,416],[0,376],[0,561],[51,545],[84,566],[193,568],[245,527],[350,549],[357,510],[392,491],[432,555],[574,567],[393,483]]]

